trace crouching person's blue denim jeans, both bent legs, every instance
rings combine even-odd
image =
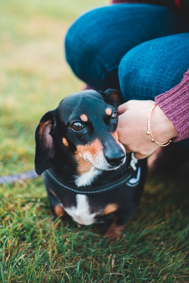
[[[156,5],[100,7],[71,25],[65,54],[94,89],[120,89],[125,101],[154,100],[189,68],[189,20]]]

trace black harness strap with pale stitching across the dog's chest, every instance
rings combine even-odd
[[[44,174],[46,177],[50,177],[57,185],[61,186],[62,188],[75,192],[77,194],[98,194],[103,192],[108,192],[110,190],[114,190],[123,186],[127,187],[136,187],[140,180],[141,180],[141,166],[140,166],[140,160],[137,160],[134,157],[133,153],[128,153],[127,158],[129,158],[130,162],[127,162],[129,164],[126,168],[126,172],[115,181],[112,181],[108,184],[102,185],[102,186],[75,186],[70,183],[66,183],[62,181],[58,177],[54,177],[54,172],[52,168],[45,170]]]

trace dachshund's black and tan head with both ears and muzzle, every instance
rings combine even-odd
[[[116,90],[85,90],[65,97],[55,110],[47,112],[35,132],[37,174],[58,160],[60,150],[73,158],[80,174],[92,165],[100,170],[122,165],[125,150],[116,133],[116,108],[121,103]]]

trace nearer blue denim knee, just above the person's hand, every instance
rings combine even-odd
[[[129,50],[118,68],[124,100],[154,100],[180,83],[188,69],[188,52],[189,33],[156,38]]]

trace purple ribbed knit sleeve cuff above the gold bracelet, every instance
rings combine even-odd
[[[178,85],[154,100],[177,130],[178,136],[173,141],[189,138],[189,69]]]

